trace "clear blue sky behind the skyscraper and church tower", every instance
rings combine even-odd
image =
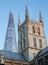
[[[46,41],[48,43],[48,0],[0,0],[0,50],[4,48],[10,11],[12,11],[14,15],[17,41],[18,15],[20,14],[20,21],[23,23],[25,20],[26,5],[28,7],[30,19],[35,21],[39,21],[39,11],[41,10]]]

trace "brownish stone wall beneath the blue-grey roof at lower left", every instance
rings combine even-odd
[[[28,62],[23,61],[17,61],[17,60],[11,60],[11,59],[4,59],[5,65],[28,65]]]

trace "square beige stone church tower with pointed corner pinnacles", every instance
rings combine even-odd
[[[21,24],[18,20],[18,51],[24,54],[27,61],[46,47],[46,37],[41,12],[39,22],[30,20],[26,7],[25,21]]]

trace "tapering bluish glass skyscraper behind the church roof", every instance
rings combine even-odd
[[[9,14],[9,22],[7,27],[4,49],[7,51],[16,52],[16,34],[12,12],[10,12]]]

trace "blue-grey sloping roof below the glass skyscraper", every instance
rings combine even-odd
[[[19,61],[26,61],[24,55],[21,53],[0,50],[0,55],[2,54],[2,52],[3,52],[4,58],[19,60]]]

